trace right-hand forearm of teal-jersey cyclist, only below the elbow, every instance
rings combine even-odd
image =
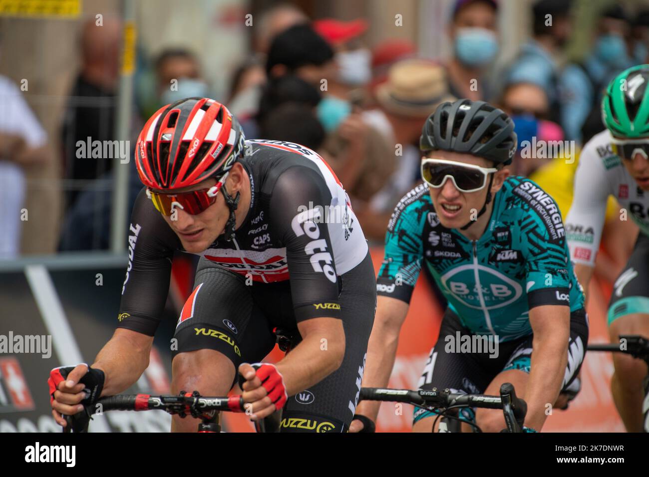
[[[540,431],[561,391],[568,361],[568,337],[535,337],[533,340],[530,380],[525,393],[528,411],[525,425]]]

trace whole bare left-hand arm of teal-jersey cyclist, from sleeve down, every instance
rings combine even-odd
[[[386,387],[397,356],[397,345],[401,326],[408,314],[408,303],[391,297],[379,295],[376,299],[376,315],[372,334],[367,344],[367,360],[363,373],[364,387]],[[356,407],[356,414],[362,414],[376,421],[378,401],[361,401]],[[361,427],[355,421],[356,427]],[[352,431],[353,432],[353,431]]]

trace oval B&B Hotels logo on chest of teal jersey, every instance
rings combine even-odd
[[[478,283],[476,283],[476,270]],[[502,273],[484,265],[461,265],[441,276],[442,286],[469,308],[491,310],[519,299],[522,287]],[[480,294],[485,306],[480,303]]]

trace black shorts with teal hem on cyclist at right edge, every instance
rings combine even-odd
[[[624,271],[613,284],[607,323],[634,313],[649,314],[649,237],[639,232]]]

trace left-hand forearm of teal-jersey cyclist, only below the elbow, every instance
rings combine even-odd
[[[367,344],[367,360],[363,373],[363,387],[386,387],[397,357],[399,329],[385,323],[375,322]],[[362,414],[376,421],[381,403],[361,401],[356,414]]]

